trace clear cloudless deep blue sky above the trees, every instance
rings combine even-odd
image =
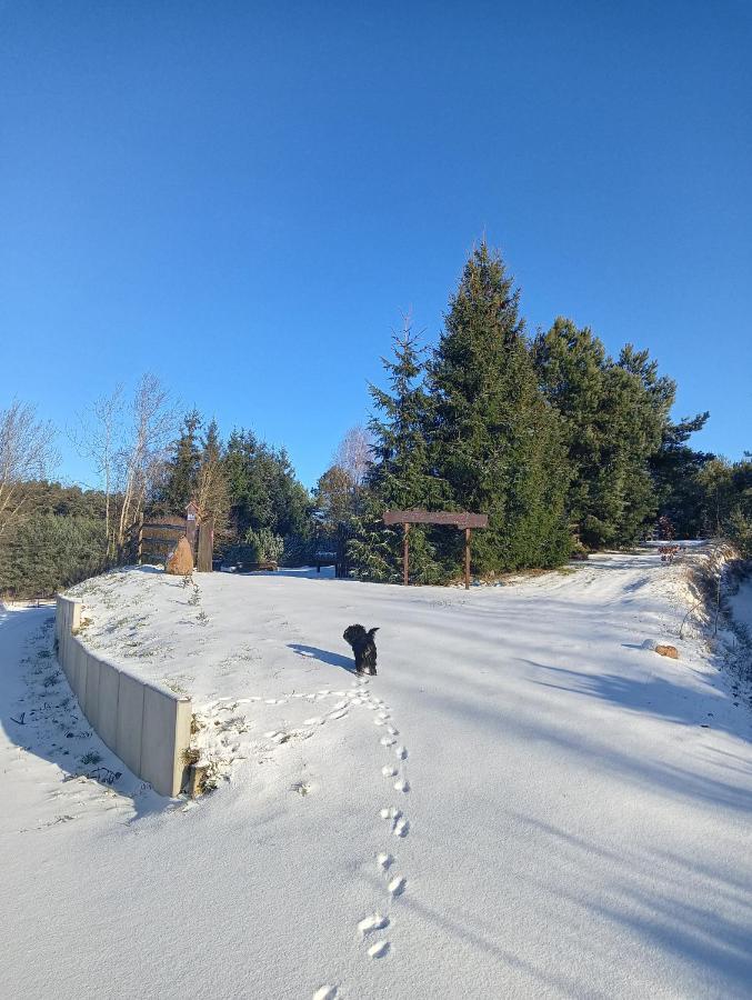
[[[149,369],[311,484],[487,233],[529,330],[650,348],[738,458],[751,51],[748,0],[0,0],[0,407]]]

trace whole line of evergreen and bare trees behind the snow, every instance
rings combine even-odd
[[[675,382],[646,350],[609,356],[589,328],[559,318],[530,337],[520,291],[482,243],[468,260],[433,349],[410,324],[371,386],[373,416],[353,428],[312,492],[283,448],[247,429],[222,440],[214,420],[180,416],[144,376],[96,401],[73,434],[100,490],[51,482],[48,423],[18,402],[0,412],[0,594],[53,593],[132,558],[143,517],[197,502],[228,562],[310,563],[401,578],[401,530],[387,509],[489,514],[473,540],[482,576],[554,567],[662,530],[725,536],[752,558],[752,459],[730,463],[690,439],[708,413],[674,421]],[[411,577],[457,574],[462,539],[411,530]]]

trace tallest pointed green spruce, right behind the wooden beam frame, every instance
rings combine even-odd
[[[430,366],[435,469],[457,508],[489,514],[473,543],[479,572],[554,566],[571,546],[560,419],[538,388],[519,297],[483,242]]]

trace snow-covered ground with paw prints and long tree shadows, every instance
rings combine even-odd
[[[197,803],[91,734],[49,609],[0,621],[8,996],[752,993],[752,717],[676,638],[685,562],[195,581],[79,592],[89,646],[193,697],[232,776]],[[367,681],[354,621],[381,628]]]

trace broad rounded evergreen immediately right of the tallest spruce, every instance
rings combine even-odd
[[[533,358],[540,386],[562,417],[568,510],[582,543],[598,549],[635,541],[659,504],[683,531],[688,519],[696,522],[701,490],[688,477],[706,457],[683,442],[706,414],[670,421],[676,387],[659,377],[648,351],[628,344],[613,361],[589,328],[560,317],[535,338]],[[688,503],[698,511],[682,517]]]

